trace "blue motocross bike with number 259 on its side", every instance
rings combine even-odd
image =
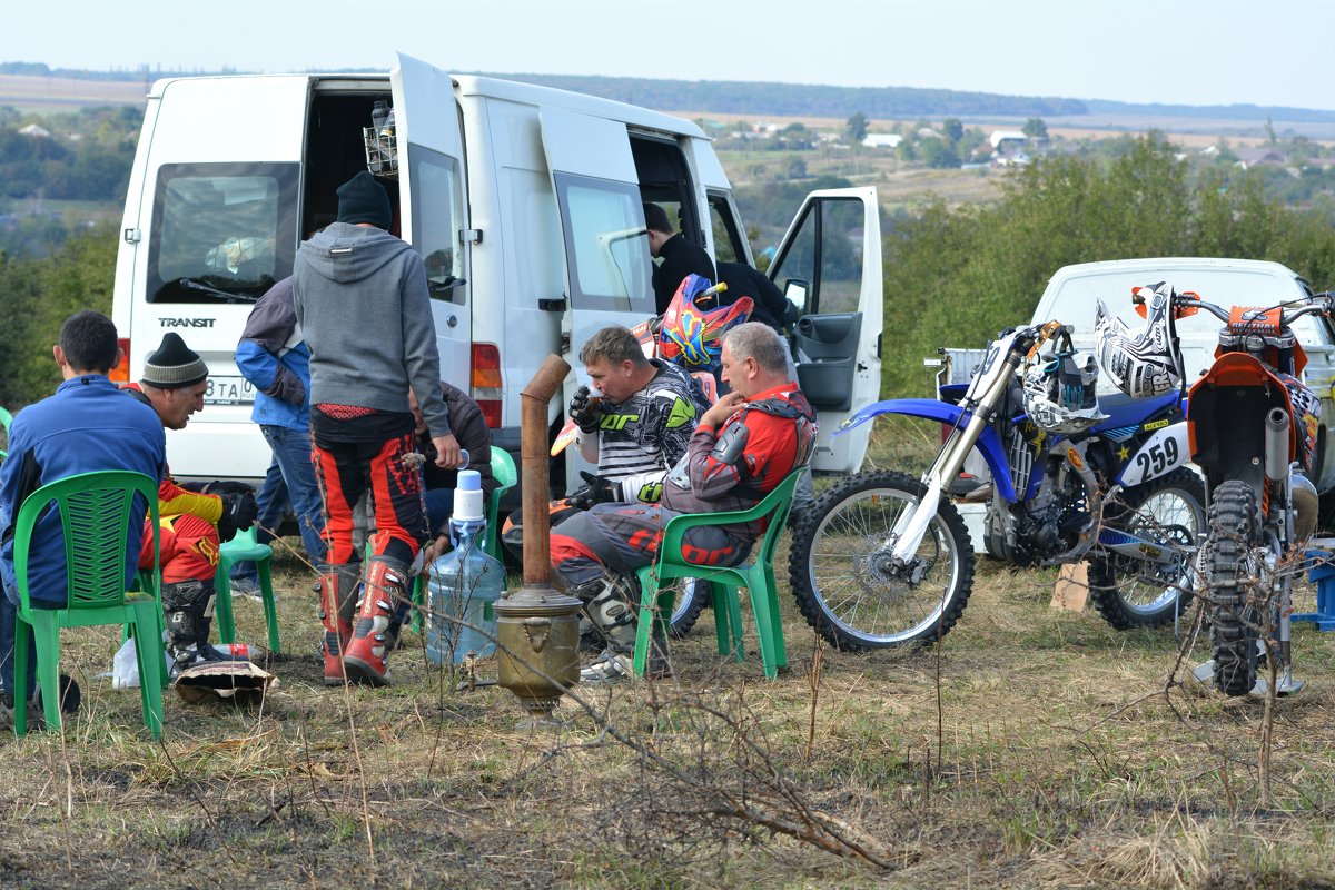
[[[1020,566],[1088,560],[1089,596],[1115,627],[1171,620],[1191,595],[1204,526],[1181,398],[1097,399],[1097,374],[1092,356],[1079,362],[1071,328],[1049,322],[1003,332],[973,379],[939,399],[854,414],[845,430],[904,415],[948,432],[921,479],[857,474],[806,511],[789,579],[808,623],[854,651],[929,643],[955,626],[973,546],[949,495],[975,448],[992,478],[965,496],[989,503],[991,554]]]

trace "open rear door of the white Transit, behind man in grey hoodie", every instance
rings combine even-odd
[[[398,148],[403,240],[426,263],[435,318],[441,379],[469,391],[473,371],[473,300],[463,128],[454,81],[425,61],[398,53],[390,72]],[[487,383],[487,382],[485,382]],[[499,386],[499,384],[497,384]]]

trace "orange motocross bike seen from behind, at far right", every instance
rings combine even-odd
[[[1164,367],[1180,368],[1177,319],[1206,310],[1223,322],[1215,362],[1187,396],[1191,458],[1210,492],[1200,563],[1212,658],[1196,675],[1212,674],[1222,693],[1244,695],[1256,686],[1264,652],[1276,659],[1276,691],[1298,691],[1290,600],[1303,543],[1316,527],[1308,474],[1320,399],[1299,379],[1307,356],[1291,326],[1303,315],[1330,316],[1332,296],[1319,294],[1296,307],[1226,308],[1160,283],[1135,288],[1132,302],[1147,332],[1167,331],[1132,338],[1132,348]]]

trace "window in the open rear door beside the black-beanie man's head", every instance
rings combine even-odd
[[[413,246],[426,264],[433,300],[463,303],[465,252],[459,243],[463,219],[463,184],[459,164],[449,155],[409,145],[413,177]]]

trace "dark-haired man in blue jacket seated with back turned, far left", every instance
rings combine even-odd
[[[19,588],[13,567],[13,522],[24,499],[44,484],[96,470],[132,470],[162,479],[167,463],[163,428],[148,408],[127,404],[107,372],[120,364],[116,326],[99,312],[76,312],[60,328],[52,350],[64,378],[56,394],[28,406],[9,430],[9,456],[0,463],[0,675],[4,698],[0,726],[13,726],[15,620]],[[148,504],[136,504],[143,511]],[[127,535],[125,588],[139,562],[143,520]],[[152,540],[150,539],[150,559]],[[35,608],[63,608],[65,554],[55,512],[37,520],[28,552],[28,592]],[[31,640],[31,630],[29,640]],[[29,646],[29,651],[33,651]],[[32,698],[36,671],[29,671],[24,698]]]

